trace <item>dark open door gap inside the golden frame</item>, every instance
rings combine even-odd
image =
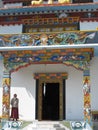
[[[59,83],[42,84],[42,120],[59,120]]]

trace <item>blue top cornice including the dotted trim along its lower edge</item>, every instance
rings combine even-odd
[[[34,6],[24,6],[24,7],[11,7],[11,8],[1,8],[0,15],[10,15],[10,14],[46,14],[46,13],[57,13],[57,12],[92,12],[98,11],[98,3],[81,3],[81,4],[42,4]]]

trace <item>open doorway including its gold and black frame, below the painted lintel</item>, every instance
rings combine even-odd
[[[38,120],[63,120],[65,118],[64,79],[39,79],[36,96]]]

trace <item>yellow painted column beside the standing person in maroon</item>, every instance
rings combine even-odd
[[[3,97],[2,97],[2,118],[9,119],[10,115],[10,83],[11,73],[6,69],[3,72]]]

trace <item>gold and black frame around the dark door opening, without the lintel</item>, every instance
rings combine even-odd
[[[59,120],[65,117],[65,80],[64,79],[39,79],[37,80],[37,116],[38,120],[42,120],[42,84],[43,83],[59,83]]]

